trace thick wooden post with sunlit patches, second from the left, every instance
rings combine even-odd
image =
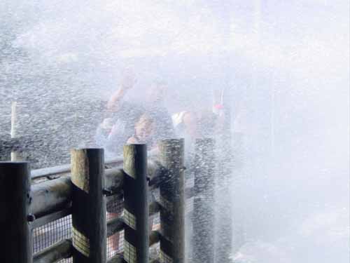
[[[106,262],[104,150],[71,150],[73,263]]]

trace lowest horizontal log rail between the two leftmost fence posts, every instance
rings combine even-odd
[[[36,253],[33,263],[56,262],[60,259],[71,257],[73,245],[70,239],[62,240]]]

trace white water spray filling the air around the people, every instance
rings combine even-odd
[[[102,110],[92,105],[125,70],[137,79],[126,100],[142,102],[165,81],[170,114],[211,109],[213,90],[228,88],[232,135],[242,135],[232,262],[349,262],[349,8],[3,0],[0,135],[18,101],[18,133],[50,149],[36,151],[34,168],[54,166],[68,163],[69,148],[93,144],[78,133],[94,133]]]

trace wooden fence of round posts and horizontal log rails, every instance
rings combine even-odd
[[[27,162],[0,163],[0,262],[185,262],[185,203],[194,198],[193,262],[214,262],[214,140],[196,142],[194,186],[185,187],[183,140],[162,140],[151,161],[145,144],[124,147],[123,160],[104,162],[103,149],[73,149],[71,165],[30,171]],[[113,163],[113,168],[106,168]],[[31,185],[31,180],[51,180]],[[57,177],[57,178],[55,178]],[[54,179],[55,178],[55,179]],[[157,201],[150,191],[159,189]],[[106,220],[106,196],[123,193],[123,216]],[[152,231],[149,217],[160,213]],[[71,215],[71,238],[32,252],[32,229]],[[106,256],[107,238],[124,230],[124,250]],[[156,258],[149,247],[159,243]],[[231,244],[227,244],[230,250]]]

